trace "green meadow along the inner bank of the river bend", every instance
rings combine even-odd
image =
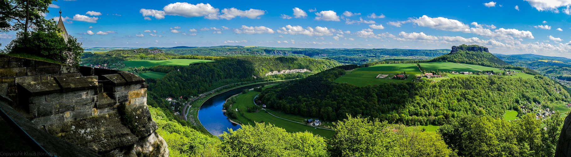
[[[306,126],[304,124],[293,123],[289,122],[288,120],[279,119],[276,118],[275,116],[268,114],[267,111],[264,110],[260,110],[259,112],[246,112],[247,107],[255,105],[253,100],[254,97],[258,94],[260,94],[260,92],[250,91],[247,92],[246,94],[239,95],[238,98],[236,98],[236,103],[232,104],[232,107],[228,108],[228,110],[235,110],[235,108],[238,108],[239,114],[237,119],[239,120],[239,123],[242,124],[254,124],[254,122],[264,122],[266,124],[270,123],[274,124],[276,127],[284,128],[288,132],[300,132],[307,130],[309,132],[312,132],[313,134],[317,134],[325,138],[331,138],[333,136],[333,133],[335,133],[335,131],[315,128],[311,126]],[[244,113],[243,115],[242,112]],[[270,111],[270,112],[276,116],[280,116],[281,118],[293,120],[296,122],[297,120],[301,119],[305,120],[305,118],[302,118],[301,116],[282,114],[276,111]],[[303,120],[301,121],[303,122]]]

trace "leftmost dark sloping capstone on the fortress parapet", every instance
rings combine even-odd
[[[59,92],[60,87],[55,80],[41,80],[32,82],[19,82],[18,92],[20,94],[30,94],[30,95],[46,95],[55,92]]]

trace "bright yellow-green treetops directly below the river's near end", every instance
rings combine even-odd
[[[319,135],[288,133],[272,124],[244,125],[220,137],[224,156],[328,156],[325,139]]]

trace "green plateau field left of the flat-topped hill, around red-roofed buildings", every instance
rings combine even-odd
[[[390,79],[395,74],[406,72],[408,79]],[[388,74],[387,78],[376,78],[379,74]],[[347,82],[356,86],[367,86],[369,84],[381,84],[388,82],[411,82],[416,79],[420,70],[414,64],[386,64],[370,67],[360,67],[337,79],[335,82]]]

